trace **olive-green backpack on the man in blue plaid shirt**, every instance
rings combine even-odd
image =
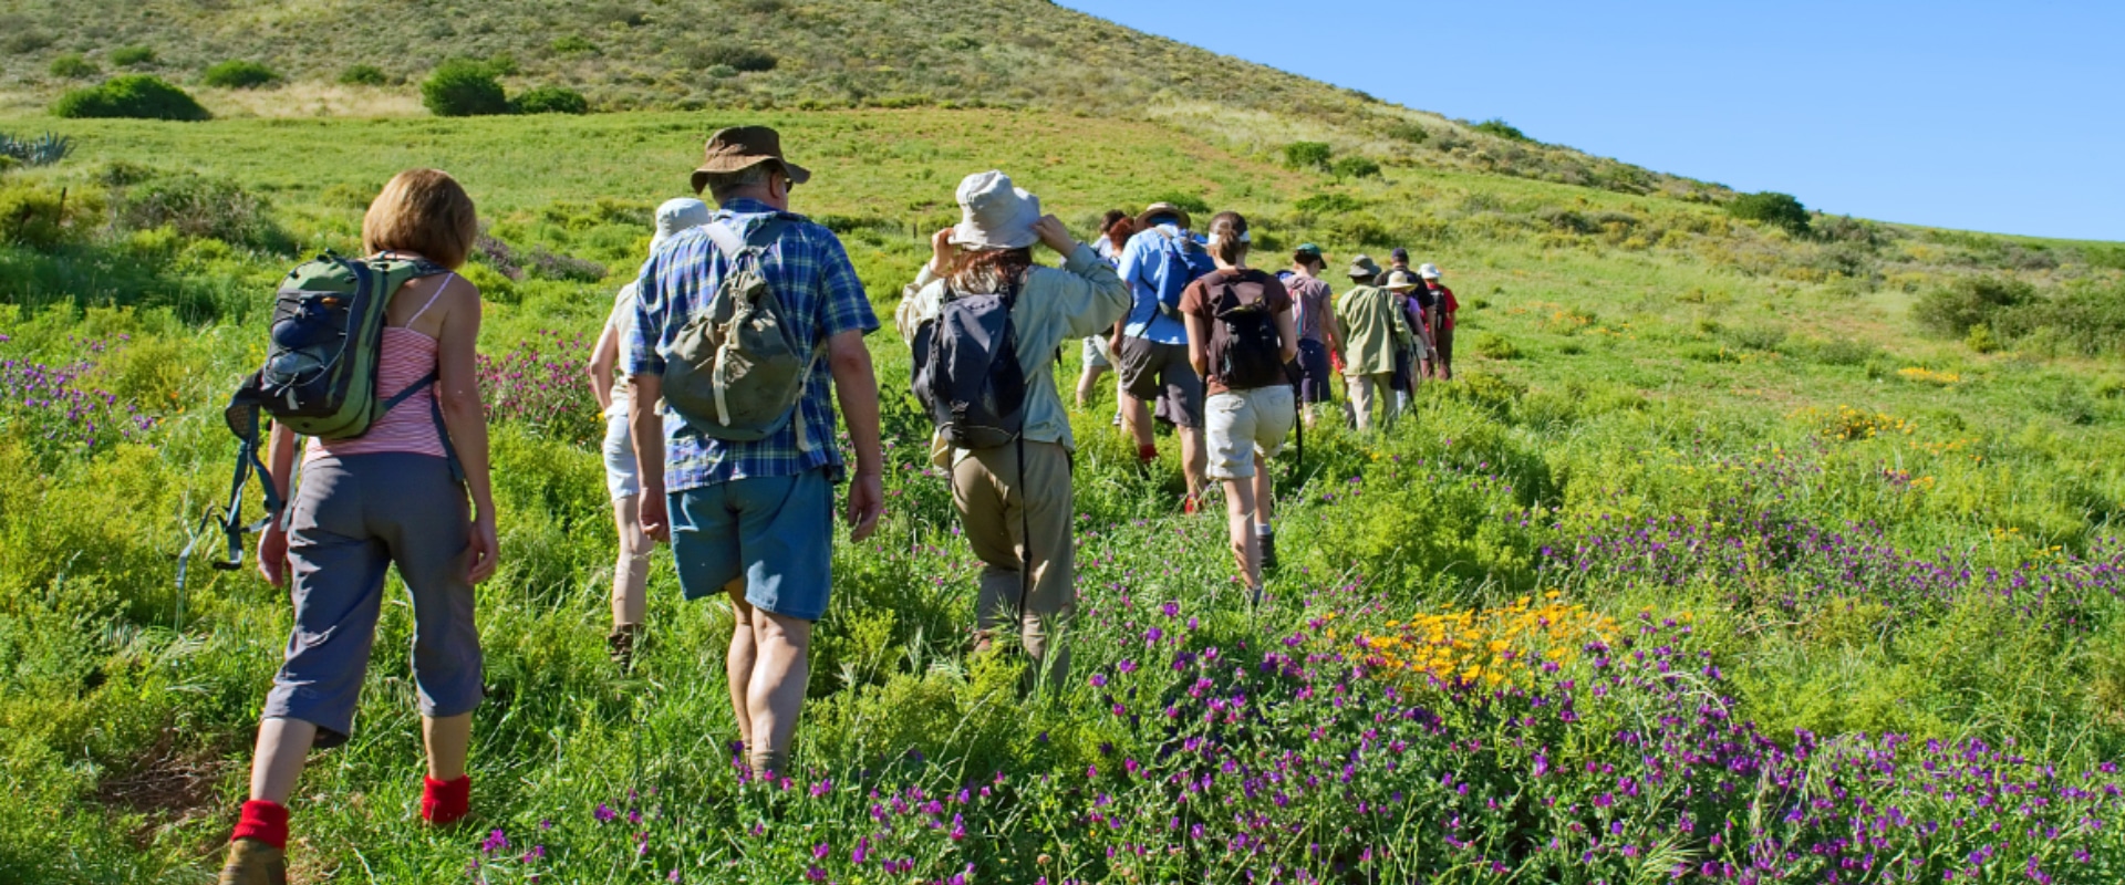
[[[771,219],[744,240],[718,221],[703,227],[727,263],[708,310],[672,340],[663,399],[710,439],[767,439],[790,422],[820,354],[808,340],[810,323],[793,323],[761,274],[761,257],[786,221]],[[810,450],[812,439],[799,433],[797,446]]]

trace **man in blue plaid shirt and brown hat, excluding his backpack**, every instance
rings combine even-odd
[[[810,318],[812,342],[824,346],[788,424],[761,441],[710,439],[661,403],[665,357],[680,329],[710,308],[731,267],[701,227],[674,236],[642,265],[623,350],[635,384],[629,422],[642,471],[642,528],[672,541],[686,598],[731,598],[731,707],[748,764],[761,777],[786,770],[810,679],[812,622],[827,613],[833,486],[850,480],[846,518],[854,541],[878,528],[884,509],[878,378],[863,346],[878,316],[842,242],[788,214],[790,187],[808,178],[782,159],[782,140],[769,127],[716,132],[693,174],[695,193],[708,189],[722,206],[710,225],[746,236],[784,221],[761,272],[784,316]],[[842,463],[829,374],[856,450],[854,478]]]

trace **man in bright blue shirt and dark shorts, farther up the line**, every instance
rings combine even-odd
[[[1188,327],[1182,323],[1182,289],[1216,265],[1188,233],[1188,212],[1173,204],[1152,204],[1137,216],[1137,236],[1122,246],[1118,274],[1128,282],[1133,303],[1122,318],[1114,348],[1122,376],[1122,418],[1137,437],[1137,461],[1158,458],[1152,439],[1150,399],[1160,399],[1160,418],[1182,437],[1182,467],[1188,473],[1184,511],[1203,499],[1203,376],[1188,363]]]

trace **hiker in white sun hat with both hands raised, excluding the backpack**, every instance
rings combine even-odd
[[[1016,293],[1009,320],[1026,384],[1020,439],[969,450],[946,444],[939,433],[931,454],[952,473],[952,503],[973,554],[986,562],[975,601],[980,641],[986,645],[999,626],[1016,620],[1035,666],[1062,679],[1069,649],[1048,643],[1077,605],[1075,441],[1056,391],[1054,357],[1065,340],[1114,327],[1128,312],[1128,287],[1003,172],[967,176],[958,185],[958,206],[963,221],[931,238],[935,255],[905,289],[897,325],[914,344],[916,331],[950,299]],[[1035,265],[1035,242],[1062,255],[1062,267]]]

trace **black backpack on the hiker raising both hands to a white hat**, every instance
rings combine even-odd
[[[1012,325],[1020,287],[999,295],[946,291],[937,316],[916,327],[916,399],[956,448],[1005,446],[1026,427],[1026,369]]]

